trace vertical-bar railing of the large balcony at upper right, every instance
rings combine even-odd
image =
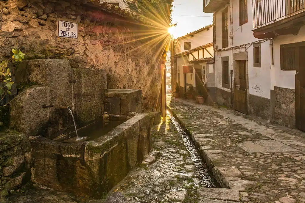
[[[257,28],[274,23],[304,8],[305,0],[253,0],[253,26]]]

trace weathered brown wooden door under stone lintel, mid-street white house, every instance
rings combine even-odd
[[[236,84],[236,80],[234,79],[233,107],[235,110],[242,112],[243,114],[248,114],[246,60],[238,61],[238,65],[239,84]]]

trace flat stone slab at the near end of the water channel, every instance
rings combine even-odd
[[[239,201],[239,192],[237,190],[226,188],[202,188],[198,190],[197,193],[200,197],[210,199]]]

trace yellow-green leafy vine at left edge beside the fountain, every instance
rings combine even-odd
[[[18,50],[18,49],[12,49],[13,52],[13,56],[12,56],[12,60],[14,60],[15,62],[17,61],[22,61],[24,59],[24,54]],[[8,68],[8,64],[10,61],[2,61],[0,63],[0,73],[1,75],[1,80],[2,82],[5,83],[5,86],[1,86],[0,87],[0,100],[3,100],[6,93],[11,94],[10,89],[12,88],[12,85],[14,84],[14,82],[12,81],[12,73],[11,70]]]

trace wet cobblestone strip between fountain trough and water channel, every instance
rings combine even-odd
[[[151,155],[104,202],[198,202],[199,173],[170,118],[152,135]]]

